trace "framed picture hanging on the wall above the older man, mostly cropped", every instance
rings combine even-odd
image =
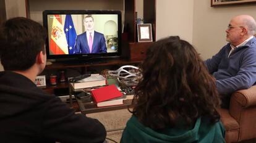
[[[255,4],[256,0],[211,0],[211,7],[213,6],[228,6],[240,4]]]

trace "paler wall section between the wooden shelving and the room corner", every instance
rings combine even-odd
[[[193,8],[192,0],[156,0],[156,40],[178,35],[192,43]]]

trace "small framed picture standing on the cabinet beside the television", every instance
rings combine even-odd
[[[138,42],[152,41],[152,28],[150,23],[137,24]]]

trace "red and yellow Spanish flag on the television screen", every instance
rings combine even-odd
[[[54,15],[49,49],[51,54],[69,54],[67,39],[59,15]]]

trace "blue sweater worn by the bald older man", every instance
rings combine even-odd
[[[232,94],[239,89],[247,89],[256,81],[256,38],[244,46],[237,47],[229,55],[230,44],[205,61],[208,71],[216,78],[220,94]]]

